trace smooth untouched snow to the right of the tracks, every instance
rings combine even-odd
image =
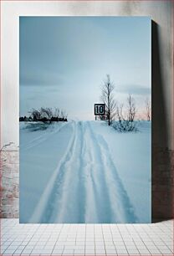
[[[134,206],[138,223],[151,222],[151,122],[140,121],[138,132],[115,132],[104,123],[95,130],[105,137],[116,171]]]

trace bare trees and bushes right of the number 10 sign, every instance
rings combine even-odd
[[[108,125],[113,125],[118,131],[136,131],[136,100],[128,95],[125,105],[115,100],[115,84],[110,81],[110,75],[101,86],[100,100],[105,104],[105,115],[100,115],[100,120],[106,120]],[[146,120],[151,120],[151,101],[146,98],[145,111]],[[116,122],[113,122],[117,120]]]

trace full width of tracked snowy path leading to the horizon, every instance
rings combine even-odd
[[[64,157],[33,212],[40,223],[136,223],[109,146],[90,121],[76,121]]]

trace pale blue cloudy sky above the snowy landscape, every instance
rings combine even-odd
[[[151,95],[151,18],[20,17],[19,48],[20,115],[58,106],[92,120],[106,74],[120,102]]]

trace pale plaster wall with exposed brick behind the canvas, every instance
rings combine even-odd
[[[152,218],[173,217],[172,1],[4,2],[2,4],[1,217],[18,217],[18,16],[150,16],[152,22]],[[5,146],[7,145],[7,146]],[[3,163],[3,164],[2,164]]]

